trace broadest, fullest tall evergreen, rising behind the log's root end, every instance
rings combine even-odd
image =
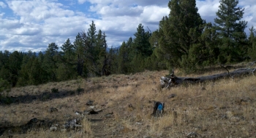
[[[162,18],[159,29],[152,34],[151,44],[157,46],[157,57],[173,68],[179,66],[179,60],[187,58],[193,44],[199,43],[196,38],[202,33],[200,25],[205,20],[197,13],[195,0],[172,0],[168,7],[169,17]]]

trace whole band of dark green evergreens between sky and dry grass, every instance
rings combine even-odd
[[[193,73],[206,66],[256,60],[256,31],[252,26],[246,36],[244,9],[238,7],[238,0],[220,0],[215,23],[200,17],[195,0],[172,0],[167,6],[170,14],[162,17],[157,31],[140,24],[120,49],[107,50],[108,34],[97,31],[92,21],[73,44],[67,38],[62,46],[50,43],[39,54],[0,52],[1,87],[144,70],[180,68]]]

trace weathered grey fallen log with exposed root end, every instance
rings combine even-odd
[[[223,66],[223,68],[225,68]],[[225,68],[227,70],[227,68]],[[227,73],[219,73],[219,74],[214,74],[211,76],[199,76],[195,78],[191,77],[177,77],[174,75],[174,70],[173,73],[170,74],[170,76],[162,76],[160,79],[160,83],[162,88],[167,89],[169,86],[175,86],[178,84],[196,84],[196,83],[202,83],[204,81],[217,81],[220,78],[234,78],[238,76],[246,76],[250,74],[255,74],[256,68],[240,68],[237,70],[234,70],[230,72],[227,70]]]

